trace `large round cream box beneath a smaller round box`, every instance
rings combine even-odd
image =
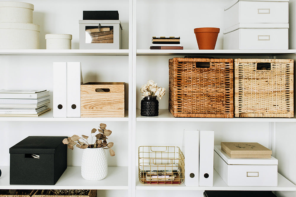
[[[40,26],[30,23],[0,23],[0,49],[39,49]]]

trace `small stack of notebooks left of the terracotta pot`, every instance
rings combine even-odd
[[[150,49],[183,49],[180,37],[152,37]]]

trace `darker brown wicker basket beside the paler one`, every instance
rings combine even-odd
[[[233,59],[170,59],[168,108],[175,117],[233,118]]]

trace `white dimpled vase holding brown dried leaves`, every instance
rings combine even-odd
[[[81,161],[81,176],[86,180],[102,180],[107,176],[106,152],[103,148],[86,148]]]

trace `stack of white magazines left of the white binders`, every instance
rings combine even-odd
[[[0,116],[39,116],[51,109],[46,90],[0,90]]]

